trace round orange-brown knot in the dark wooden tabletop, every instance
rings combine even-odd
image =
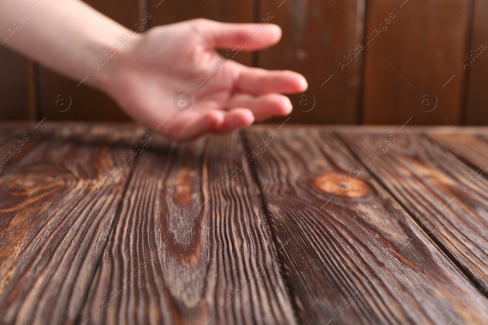
[[[365,181],[340,172],[325,172],[315,177],[313,183],[322,191],[343,197],[364,196],[369,192]]]

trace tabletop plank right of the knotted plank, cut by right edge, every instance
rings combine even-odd
[[[454,263],[478,287],[487,288],[488,180],[479,177],[482,171],[476,176],[480,166],[488,168],[483,157],[478,157],[481,162],[476,161],[477,168],[473,168],[422,134],[388,132],[394,141],[385,146],[382,143],[390,135],[381,131],[338,131],[363,165],[392,191]],[[475,153],[462,135],[443,134],[438,139],[448,147],[457,147],[458,153]],[[480,150],[488,148],[486,142],[473,143]],[[466,155],[466,159],[472,158],[473,154]]]

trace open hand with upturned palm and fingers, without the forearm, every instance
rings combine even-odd
[[[227,52],[232,58],[274,45],[281,38],[277,25],[258,30],[256,24],[194,19],[135,36],[114,56],[105,91],[134,119],[173,139],[230,133],[288,115],[291,102],[280,94],[307,88],[298,73],[246,67],[215,50],[233,50]]]

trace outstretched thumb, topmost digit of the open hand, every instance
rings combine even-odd
[[[275,24],[228,24],[208,19],[195,19],[193,23],[210,46],[235,51],[264,49],[278,43],[282,34]]]

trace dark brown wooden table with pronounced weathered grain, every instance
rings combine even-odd
[[[2,124],[1,324],[487,324],[488,128]]]

